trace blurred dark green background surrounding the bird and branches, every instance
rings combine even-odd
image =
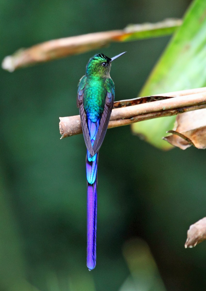
[[[2,0],[0,58],[49,39],[182,17],[190,2]],[[98,51],[127,51],[111,69],[116,100],[137,96],[169,39]],[[82,135],[60,140],[58,117],[78,114],[77,84],[95,53],[1,70],[0,290],[205,291],[205,243],[184,242],[206,214],[206,152],[160,151],[128,126],[109,129],[100,150],[97,267],[86,268],[86,148]]]

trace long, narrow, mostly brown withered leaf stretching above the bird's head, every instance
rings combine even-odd
[[[3,59],[2,68],[13,72],[18,68],[36,63],[100,49],[111,42],[165,36],[173,33],[181,24],[181,19],[165,19],[157,23],[133,24],[122,30],[102,31],[49,40],[27,49],[19,49],[13,55],[6,56]]]

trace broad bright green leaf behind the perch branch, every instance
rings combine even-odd
[[[173,36],[146,81],[140,96],[192,89],[206,85],[206,1],[193,1],[182,26]],[[132,125],[152,145],[161,149],[173,146],[162,140],[173,129],[175,116],[147,120]]]

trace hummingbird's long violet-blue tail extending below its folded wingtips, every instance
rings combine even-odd
[[[97,152],[94,156],[87,151],[87,267],[89,271],[96,266],[96,232],[97,232]]]

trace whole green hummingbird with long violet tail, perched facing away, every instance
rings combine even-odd
[[[111,62],[125,52],[109,58],[95,54],[86,65],[86,74],[79,80],[77,107],[87,148],[87,267],[96,266],[97,231],[97,165],[114,103],[115,88],[110,77]]]

